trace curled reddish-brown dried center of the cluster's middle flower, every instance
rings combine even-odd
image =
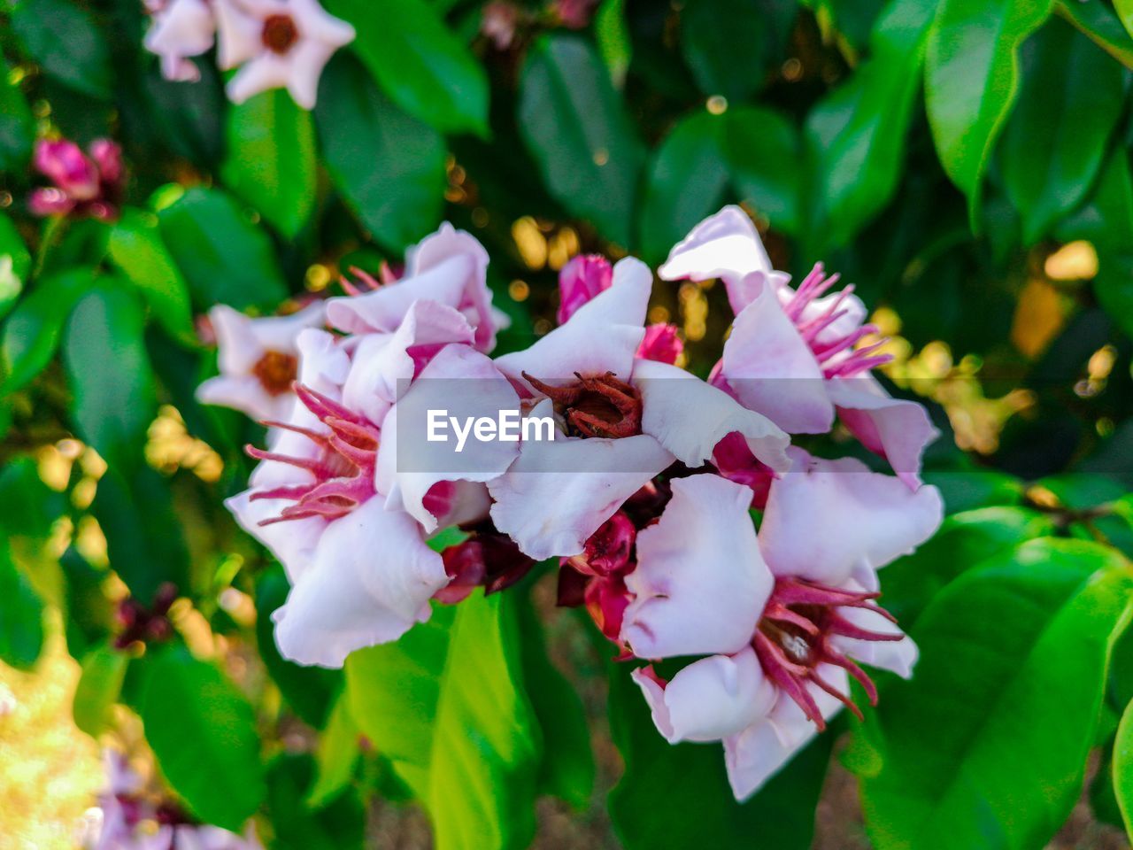
[[[613,372],[587,377],[576,372],[578,381],[564,386],[521,374],[554,402],[571,436],[617,439],[641,433],[641,394]]]

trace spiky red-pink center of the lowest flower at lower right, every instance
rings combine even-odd
[[[826,729],[823,712],[809,690],[816,685],[844,703],[861,719],[861,709],[846,694],[823,679],[819,665],[845,670],[866,689],[871,705],[877,704],[877,688],[860,666],[838,649],[834,638],[857,640],[901,640],[900,634],[883,634],[855,626],[841,612],[843,607],[872,611],[889,622],[893,615],[879,607],[876,593],[857,593],[803,579],[777,579],[752,647],[764,672],[785,691],[820,730]]]

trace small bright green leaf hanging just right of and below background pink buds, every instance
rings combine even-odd
[[[165,249],[157,218],[126,207],[110,233],[110,260],[150,305],[170,337],[196,345],[189,287]]]

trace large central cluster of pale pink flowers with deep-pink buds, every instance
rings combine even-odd
[[[722,741],[743,799],[843,705],[859,713],[851,679],[876,699],[861,664],[910,674],[917,649],[877,603],[878,570],[940,522],[919,477],[936,432],[871,376],[885,357],[852,288],[834,291],[821,266],[792,288],[738,207],[659,269],[727,288],[735,321],[708,380],[678,365],[675,328],[646,325],[654,274],[632,257],[572,260],[559,326],[491,358],[486,266],[444,226],[400,279],[356,272],[348,296],[286,317],[215,308],[221,375],[201,396],[269,427],[229,507],[291,580],[279,646],[337,666],[431,601],[499,592],[554,559],[560,604],[585,605],[642,662],[659,732]],[[408,425],[423,405],[550,418],[554,439],[426,462]],[[896,475],[791,444],[835,417]],[[468,536],[431,549],[450,526]]]

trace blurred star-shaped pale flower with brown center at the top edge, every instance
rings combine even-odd
[[[215,0],[218,61],[239,66],[225,88],[233,103],[271,88],[287,88],[304,109],[314,109],[318,78],[355,28],[315,0]]]

